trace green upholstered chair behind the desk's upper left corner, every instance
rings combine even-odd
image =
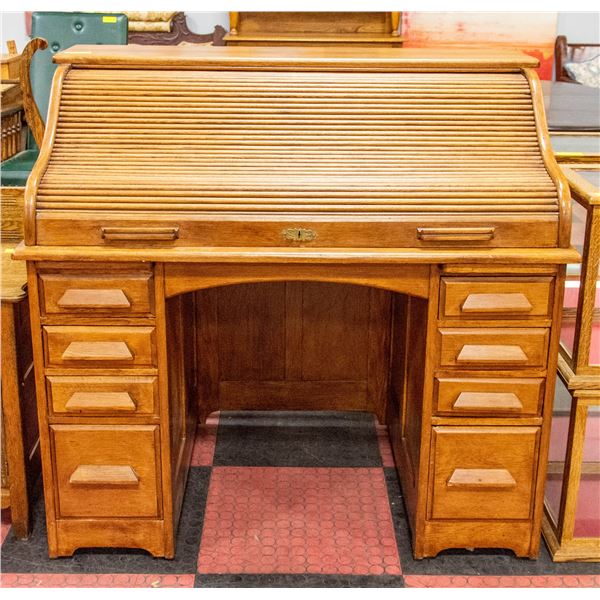
[[[115,13],[34,12],[31,18],[32,37],[48,42],[46,50],[35,53],[31,61],[31,87],[33,97],[46,122],[50,88],[56,65],[54,54],[76,44],[127,43],[127,17]],[[38,149],[31,134],[27,138],[27,150],[20,152],[0,166],[2,186],[23,186],[38,156]]]

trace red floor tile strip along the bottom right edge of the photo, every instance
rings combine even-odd
[[[600,587],[598,575],[405,575],[406,587],[504,588],[504,587]]]

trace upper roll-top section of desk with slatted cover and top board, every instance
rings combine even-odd
[[[566,247],[531,57],[77,46],[30,245]]]

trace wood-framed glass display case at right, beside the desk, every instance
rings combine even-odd
[[[543,533],[555,561],[600,561],[600,163],[561,166],[582,262],[567,267]]]

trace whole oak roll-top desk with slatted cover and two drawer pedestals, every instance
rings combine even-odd
[[[55,60],[16,251],[50,555],[173,557],[211,360],[195,293],[296,281],[393,295],[380,418],[415,556],[535,557],[578,260],[537,61],[135,46]]]

